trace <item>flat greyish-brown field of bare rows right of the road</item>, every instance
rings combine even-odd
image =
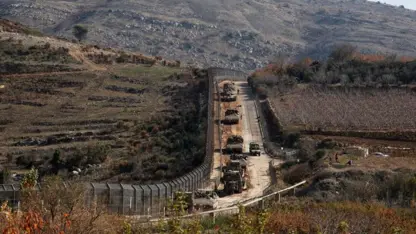
[[[405,89],[296,89],[272,97],[281,123],[307,130],[416,129],[416,94]]]

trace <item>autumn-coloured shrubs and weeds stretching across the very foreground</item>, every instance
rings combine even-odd
[[[29,180],[31,181],[31,180]],[[85,206],[83,188],[66,187],[57,177],[47,178],[43,189],[26,184],[20,210],[3,203],[2,233],[412,233],[416,229],[414,208],[388,208],[381,203],[324,202],[308,199],[271,201],[268,209],[240,207],[237,215],[181,219],[185,200],[171,202],[171,219],[137,223],[107,213],[100,200]],[[181,196],[179,196],[180,198]]]

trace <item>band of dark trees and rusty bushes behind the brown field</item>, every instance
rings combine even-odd
[[[332,84],[342,86],[399,86],[415,82],[416,61],[395,55],[363,55],[351,45],[335,47],[326,61],[309,58],[289,63],[276,59],[252,75],[256,88],[276,84]]]

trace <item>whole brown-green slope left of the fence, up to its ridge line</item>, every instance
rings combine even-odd
[[[205,71],[6,20],[0,57],[0,169],[138,183],[202,162]]]

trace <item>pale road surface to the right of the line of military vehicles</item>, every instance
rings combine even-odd
[[[243,114],[242,135],[244,138],[244,152],[248,152],[248,145],[251,141],[260,143],[261,155],[250,156],[248,158],[249,185],[248,189],[241,194],[234,194],[219,199],[219,207],[228,207],[258,196],[263,195],[271,182],[269,175],[270,157],[264,153],[263,139],[257,119],[255,97],[247,82],[235,82],[236,88],[240,90],[238,98],[241,103],[241,113]]]

